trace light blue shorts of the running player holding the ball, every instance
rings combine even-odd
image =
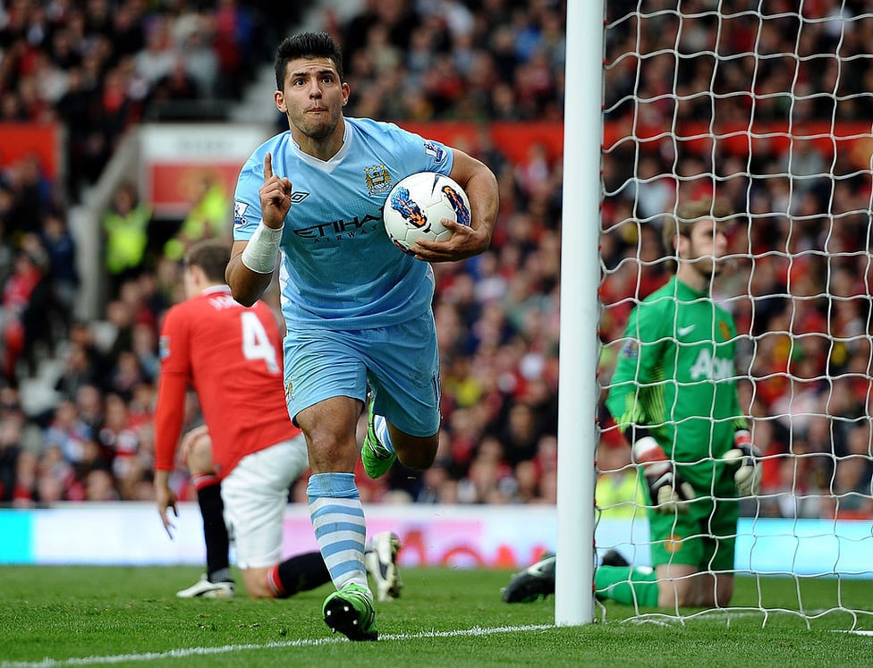
[[[284,339],[284,373],[292,418],[336,396],[367,398],[374,411],[412,436],[439,430],[437,326],[429,311],[390,327],[329,331],[289,329]]]

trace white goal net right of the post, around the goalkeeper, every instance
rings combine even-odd
[[[604,397],[631,309],[672,273],[665,216],[702,198],[735,212],[713,297],[737,327],[735,378],[764,475],[760,495],[742,499],[736,588],[717,614],[807,626],[842,614],[870,628],[873,605],[855,586],[873,578],[871,36],[860,2],[606,3]],[[605,414],[598,554],[647,566],[637,476]],[[634,605],[643,618],[716,614]]]

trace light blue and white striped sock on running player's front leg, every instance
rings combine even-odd
[[[367,525],[353,473],[309,476],[309,518],[318,549],[337,590],[350,583],[369,591],[364,568]]]

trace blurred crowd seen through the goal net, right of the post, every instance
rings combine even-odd
[[[633,7],[619,4],[622,22]],[[854,122],[873,108],[873,21],[858,2],[803,4],[802,22],[793,3],[764,21],[750,2],[720,20],[704,4],[682,4],[682,21],[671,7],[607,31],[606,119],[627,131],[604,158],[603,339],[621,336],[627,295],[665,278],[662,212],[730,201],[742,216],[719,297],[745,335],[742,391],[767,454],[761,512],[869,517],[870,147],[831,135],[867,133]]]

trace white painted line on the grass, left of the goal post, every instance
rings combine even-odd
[[[420,633],[388,633],[379,636],[379,640],[414,640],[418,638],[457,638],[464,636],[490,636],[496,633],[513,633],[517,631],[555,629],[552,624],[529,624],[526,626],[498,626],[486,629],[474,626],[466,630],[453,631],[421,631]],[[188,656],[208,656],[216,654],[231,654],[233,652],[248,652],[252,649],[279,649],[285,647],[318,647],[337,642],[345,638],[312,638],[308,640],[286,640],[268,642],[263,645],[225,645],[222,647],[186,647],[170,649],[166,652],[143,652],[141,654],[122,654],[112,656],[82,656],[72,659],[45,658],[40,661],[0,661],[0,668],[60,668],[68,665],[111,665],[130,661],[158,661],[160,659],[182,659]]]

